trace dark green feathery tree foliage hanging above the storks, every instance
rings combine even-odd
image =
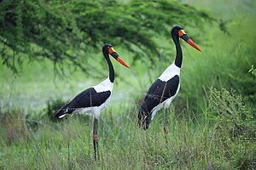
[[[153,37],[170,37],[176,24],[202,27],[213,20],[174,0],[3,0],[0,10],[1,57],[14,72],[25,58],[50,59],[57,71],[66,63],[87,72],[86,56],[106,42],[153,59],[160,56]]]

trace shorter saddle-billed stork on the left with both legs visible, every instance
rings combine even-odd
[[[109,103],[114,81],[114,71],[111,60],[109,59],[109,54],[120,64],[126,65],[125,61],[119,57],[119,54],[115,52],[111,44],[106,44],[102,47],[102,53],[107,60],[109,68],[109,76],[103,82],[97,84],[92,88],[85,89],[83,92],[77,94],[67,105],[61,107],[61,109],[56,113],[57,118],[62,118],[66,114],[72,113],[87,113],[88,115],[94,116],[93,122],[93,146],[95,159],[99,157],[98,150],[98,136],[97,136],[97,123],[98,118],[103,109],[105,109]],[[96,151],[97,150],[97,151]],[[97,156],[96,156],[97,155]]]

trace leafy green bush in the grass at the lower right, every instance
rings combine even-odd
[[[210,88],[207,109],[211,112],[209,115],[214,116],[215,154],[233,162],[239,169],[255,168],[255,117],[242,102],[241,95],[224,88],[220,91]]]

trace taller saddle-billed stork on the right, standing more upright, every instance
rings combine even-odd
[[[166,68],[160,77],[148,89],[148,92],[143,100],[143,104],[138,113],[139,126],[145,130],[148,129],[150,121],[155,113],[164,108],[166,110],[166,118],[164,124],[164,132],[167,133],[167,109],[171,105],[172,100],[176,97],[180,88],[180,68],[183,61],[182,48],[179,39],[182,38],[188,42],[190,46],[201,51],[183,31],[183,27],[174,26],[171,31],[172,40],[176,47],[176,58],[172,65]]]

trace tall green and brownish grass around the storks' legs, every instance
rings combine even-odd
[[[111,108],[99,122],[100,161],[94,161],[92,118],[73,116],[61,122],[30,120],[24,111],[1,113],[3,169],[253,169],[255,117],[239,95],[211,88],[200,116],[154,117],[148,131],[137,127],[137,108]],[[189,110],[185,111],[191,115]],[[18,114],[17,114],[18,113]],[[37,122],[31,127],[30,122]],[[9,128],[10,126],[19,128]],[[11,129],[11,131],[10,131]],[[26,133],[20,133],[20,132]],[[18,139],[13,133],[19,133]],[[9,138],[8,140],[6,138]],[[18,142],[19,141],[19,142]]]

